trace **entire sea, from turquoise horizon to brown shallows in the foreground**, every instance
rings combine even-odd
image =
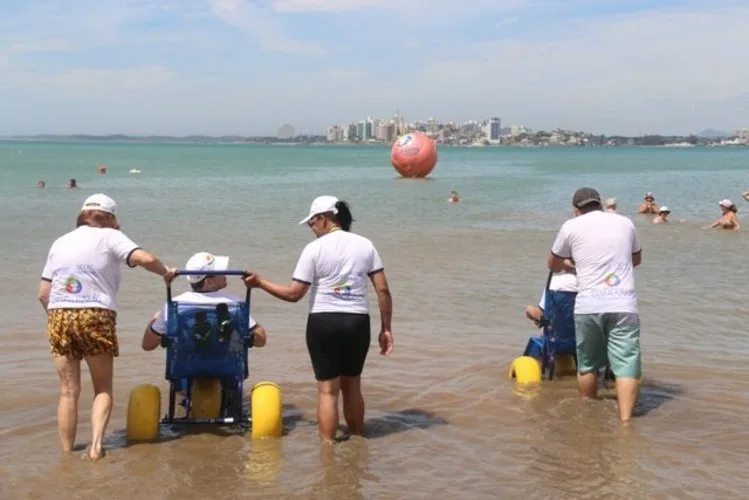
[[[106,165],[106,175],[96,167]],[[130,169],[141,170],[130,174]],[[253,498],[720,498],[749,485],[749,358],[745,231],[707,231],[731,198],[747,205],[749,149],[442,148],[430,179],[399,179],[381,147],[0,142],[0,234],[8,268],[0,302],[0,494],[111,498],[211,494]],[[77,179],[80,189],[65,187]],[[36,187],[45,180],[47,187]],[[533,397],[507,372],[532,325],[545,259],[580,186],[619,200],[644,247],[637,286],[644,383],[638,418],[615,401],[582,402],[575,381]],[[456,189],[463,202],[447,203]],[[672,210],[656,226],[636,215],[645,192]],[[394,295],[395,352],[372,348],[364,373],[368,437],[329,450],[315,428],[304,345],[306,303],[253,295],[269,332],[251,352],[250,383],[284,391],[287,435],[166,433],[128,446],[130,389],[164,395],[164,354],[140,336],[163,282],[124,272],[115,409],[102,462],[61,457],[57,379],[36,302],[49,245],[74,226],[86,196],[118,202],[123,230],[170,265],[199,250],[276,281],[290,279],[311,234],[311,200],[350,202]],[[237,281],[237,280],[235,280]],[[179,285],[175,285],[179,286]],[[230,288],[241,291],[241,284]],[[373,300],[373,314],[377,317]],[[375,319],[376,324],[376,319]],[[78,442],[90,440],[84,384]],[[19,452],[19,450],[21,450]]]

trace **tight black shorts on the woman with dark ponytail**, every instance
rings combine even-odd
[[[312,313],[307,350],[318,381],[358,377],[369,351],[369,314]]]

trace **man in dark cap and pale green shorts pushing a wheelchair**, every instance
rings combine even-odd
[[[575,261],[578,387],[584,397],[596,397],[598,371],[609,364],[616,377],[619,418],[628,422],[641,377],[634,268],[642,261],[642,246],[632,221],[604,212],[595,189],[578,189],[572,206],[575,217],[559,230],[548,264],[557,272],[566,259]]]

